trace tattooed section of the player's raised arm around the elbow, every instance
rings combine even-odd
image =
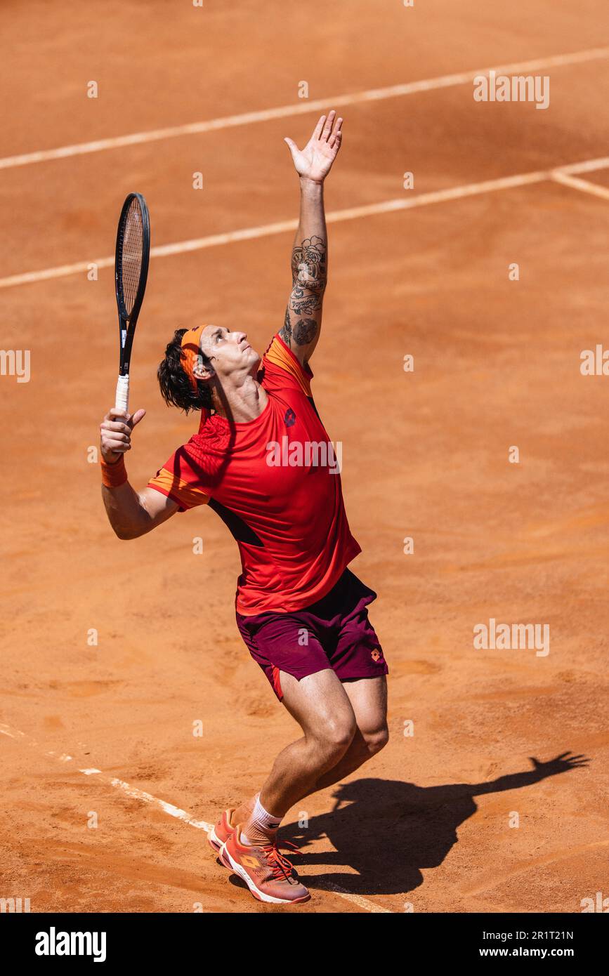
[[[292,251],[292,293],[279,335],[290,346],[306,346],[315,338],[319,322],[314,316],[321,308],[327,283],[326,242],[321,237],[306,237]],[[290,312],[299,316],[292,324]]]

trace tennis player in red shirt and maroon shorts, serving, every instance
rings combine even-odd
[[[304,149],[285,140],[300,179],[300,223],[285,321],[262,361],[245,332],[176,332],[158,369],[161,393],[200,412],[200,425],[142,491],[129,483],[124,455],[145,411],[112,409],[101,427],[103,503],[119,539],[207,505],[239,547],[237,627],[303,736],[279,753],[260,793],[223,812],[209,840],[256,898],[273,903],[310,897],[278,849],[282,818],[387,741],[387,667],[367,610],[377,594],[347,568],[360,548],[310,390],[327,280],[323,184],[342,123],[331,111]]]

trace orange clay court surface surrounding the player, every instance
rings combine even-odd
[[[237,548],[203,508],[114,538],[88,461],[116,382],[113,271],[37,272],[111,257],[133,189],[153,247],[258,228],[151,261],[131,371],[140,487],[196,427],[156,386],[174,329],[245,329],[264,350],[280,328],[293,229],[268,225],[298,205],[282,139],[302,144],[334,106],[327,210],[369,210],[329,225],[313,391],[343,442],[351,568],[379,594],[391,740],[304,801],[307,826],[288,815],[313,896],[296,911],[580,912],[609,855],[609,379],[580,372],[607,334],[606,4],[57,0],[6,2],[0,19],[2,346],[31,350],[29,383],[0,378],[0,896],[32,912],[285,911],[205,836],[300,734],[236,630]],[[476,69],[528,61],[550,77],[546,110],[473,101]],[[583,185],[552,175],[574,166]],[[526,179],[497,184],[512,177]],[[548,624],[549,654],[474,650],[490,618]],[[566,752],[589,762],[534,771],[531,756]]]

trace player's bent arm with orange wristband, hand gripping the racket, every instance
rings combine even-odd
[[[133,417],[124,410],[108,411],[100,426],[102,499],[108,521],[119,539],[137,539],[178,510],[173,499],[151,488],[137,492],[129,484],[124,456],[131,450],[131,432],[145,410]]]

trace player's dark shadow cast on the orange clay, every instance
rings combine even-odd
[[[291,840],[300,853],[286,851],[295,868],[314,864],[331,867],[327,874],[309,874],[310,888],[337,884],[357,894],[401,894],[423,883],[425,868],[436,868],[457,842],[457,829],[475,813],[474,796],[532,786],[548,776],[585,766],[583,755],[561,752],[548,762],[531,757],[529,772],[500,776],[488,783],[451,783],[418,787],[398,780],[361,779],[336,788],[335,808],[312,817],[308,827],[286,824],[281,839]],[[506,807],[507,814],[514,800]],[[346,805],[343,805],[346,804]],[[517,804],[516,804],[517,805]],[[305,808],[306,800],[302,802]],[[307,845],[326,835],[335,851],[313,853]],[[357,874],[335,872],[348,865]]]

